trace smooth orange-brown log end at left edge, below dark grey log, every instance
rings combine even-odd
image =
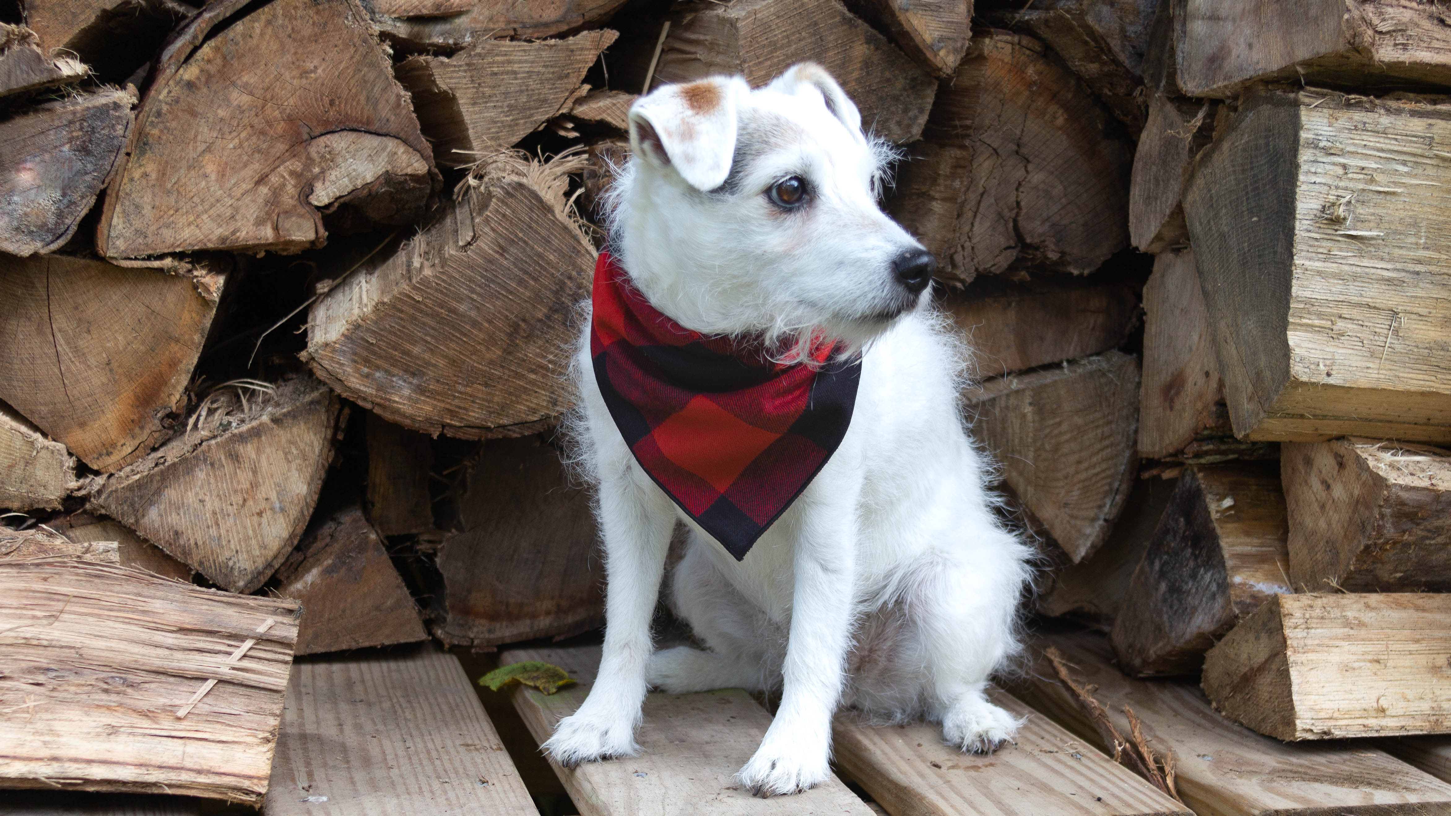
[[[145,456],[184,401],[226,280],[178,272],[0,256],[0,399],[97,470]]]

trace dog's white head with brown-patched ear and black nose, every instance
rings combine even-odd
[[[817,330],[859,347],[914,309],[936,261],[878,208],[892,150],[824,68],[752,90],[666,86],[630,109],[612,250],[656,308],[711,334]]]

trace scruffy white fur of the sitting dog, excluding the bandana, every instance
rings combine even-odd
[[[666,547],[685,517],[615,428],[586,331],[573,431],[599,485],[608,627],[589,698],[544,748],[566,767],[634,754],[653,685],[781,690],[739,774],[757,796],[830,775],[830,720],[843,704],[882,720],[924,716],[949,743],[991,751],[1019,725],[984,687],[1019,649],[1029,550],[994,517],[988,465],[962,428],[961,348],[891,273],[891,260],[920,244],[876,206],[881,150],[820,67],[797,65],[755,91],[739,78],[708,81],[731,109],[708,112],[714,129],[686,128],[689,150],[672,152],[651,134],[692,115],[682,91],[637,103],[647,116],[633,118],[636,158],[612,190],[612,251],[688,328],[786,344],[826,331],[860,348],[856,408],[831,460],[744,560],[691,527],[670,603],[710,650],[651,656]],[[733,180],[714,189],[720,152],[733,158]],[[808,179],[813,197],[782,213],[766,190],[791,174]]]

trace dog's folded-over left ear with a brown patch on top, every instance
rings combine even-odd
[[[740,77],[665,86],[630,107],[630,150],[673,167],[696,190],[714,190],[736,155],[736,109],[750,93]]]

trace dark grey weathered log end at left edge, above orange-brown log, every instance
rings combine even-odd
[[[135,103],[100,91],[0,123],[0,251],[25,257],[70,241],[110,180]]]

